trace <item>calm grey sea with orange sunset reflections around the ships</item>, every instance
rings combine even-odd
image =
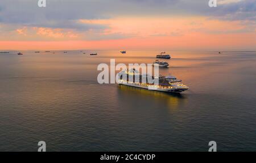
[[[180,95],[97,83],[158,51],[91,52],[0,53],[0,151],[256,151],[256,52],[168,52]]]

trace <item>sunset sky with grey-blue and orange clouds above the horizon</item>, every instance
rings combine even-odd
[[[256,50],[255,0],[46,1],[1,0],[1,50]]]

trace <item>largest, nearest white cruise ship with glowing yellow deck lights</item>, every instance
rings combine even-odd
[[[126,76],[126,79],[123,78],[123,76]],[[129,76],[132,76],[130,78],[133,78],[133,81],[129,81]],[[164,91],[164,92],[169,92],[169,93],[181,93],[185,90],[188,90],[188,86],[185,86],[183,83],[181,83],[181,80],[177,80],[176,77],[171,77],[171,76],[157,77],[158,81],[159,81],[158,85],[150,84],[150,83],[148,83],[147,80],[146,80],[146,82],[142,82],[142,75],[135,69],[124,70],[122,72],[119,72],[118,77],[119,77],[118,78],[119,85],[140,87],[143,89]],[[138,80],[138,78],[139,78],[139,80]],[[154,77],[152,77],[152,78],[154,78]],[[136,81],[136,79],[138,81]]]

